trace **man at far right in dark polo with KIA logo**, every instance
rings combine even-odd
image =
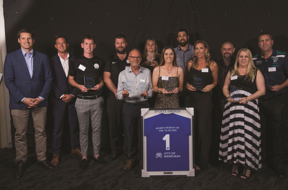
[[[269,33],[262,33],[258,37],[258,46],[261,50],[253,57],[255,66],[262,72],[265,79],[266,92],[259,98],[259,115],[261,122],[261,150],[267,161],[273,155],[274,166],[278,178],[286,178],[283,170],[283,134],[282,109],[284,106],[282,95],[288,86],[288,56],[272,48],[273,39]],[[266,124],[267,123],[267,124]],[[272,142],[271,142],[272,141]],[[267,147],[267,153],[265,152]]]

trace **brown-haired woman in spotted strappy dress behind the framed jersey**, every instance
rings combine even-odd
[[[175,50],[164,47],[159,66],[152,75],[153,91],[157,92],[154,108],[179,108],[178,92],[183,90],[183,69],[176,64]]]

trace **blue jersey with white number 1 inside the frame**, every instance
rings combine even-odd
[[[147,171],[189,171],[191,119],[160,113],[144,119]]]

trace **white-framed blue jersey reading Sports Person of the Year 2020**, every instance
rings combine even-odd
[[[193,108],[141,109],[142,177],[195,176]]]

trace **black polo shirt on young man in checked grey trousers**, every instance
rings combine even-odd
[[[85,66],[86,69],[83,71],[81,66]],[[80,68],[79,68],[80,66]],[[95,86],[100,83],[99,78],[103,77],[104,60],[100,57],[93,56],[92,58],[86,58],[84,55],[75,57],[71,61],[71,66],[69,67],[69,75],[74,77],[74,80],[79,85],[84,85],[84,75],[85,77],[94,77]],[[100,94],[100,90],[88,90],[88,92],[82,92],[78,88],[76,89],[77,95],[79,96],[94,96]]]

